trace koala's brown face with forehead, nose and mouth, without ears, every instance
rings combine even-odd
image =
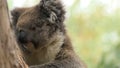
[[[32,42],[37,48],[39,44],[45,45],[54,34],[55,28],[44,18],[35,14],[36,11],[26,11],[21,14],[16,24],[16,35],[22,44]]]

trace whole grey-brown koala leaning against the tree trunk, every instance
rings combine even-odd
[[[86,68],[73,50],[60,0],[11,11],[12,28],[29,68]]]

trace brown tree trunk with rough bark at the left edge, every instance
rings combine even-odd
[[[0,68],[28,68],[10,27],[6,0],[0,0]]]

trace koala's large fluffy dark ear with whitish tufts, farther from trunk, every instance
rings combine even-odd
[[[41,0],[38,6],[51,23],[64,21],[65,11],[60,0]]]

